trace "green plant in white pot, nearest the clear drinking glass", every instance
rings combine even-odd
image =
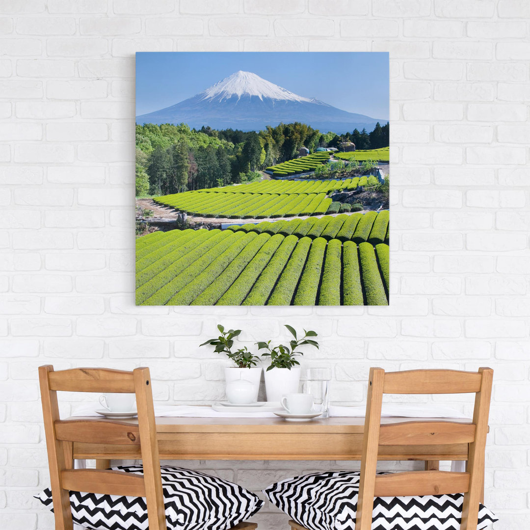
[[[315,331],[304,330],[304,336],[298,339],[296,330],[292,326],[284,325],[294,337],[294,339],[289,341],[289,346],[280,344],[271,349],[270,340],[268,342],[257,342],[258,349],[267,350],[261,356],[270,357],[270,366],[265,372],[267,401],[280,401],[285,394],[298,392],[301,368],[295,357],[304,354],[302,351],[296,351],[296,349],[306,344],[315,348],[319,347],[319,343],[316,340],[308,338],[316,337]]]

